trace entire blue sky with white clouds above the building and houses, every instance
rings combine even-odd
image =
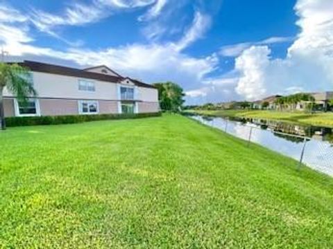
[[[8,60],[171,80],[187,104],[256,100],[332,89],[332,2],[0,1],[0,42]]]

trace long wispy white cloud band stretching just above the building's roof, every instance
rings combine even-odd
[[[146,82],[173,80],[182,84],[185,89],[189,89],[192,85],[200,84],[205,75],[214,71],[218,64],[218,58],[214,54],[196,58],[181,51],[200,37],[204,31],[203,18],[206,17],[196,15],[193,25],[189,27],[180,42],[164,44],[128,44],[103,50],[73,47],[67,50],[43,48],[33,45],[33,37],[29,35],[28,27],[19,28],[23,24],[21,19],[17,27],[0,21],[0,42],[3,42],[3,47],[15,57],[34,57],[42,61],[47,58],[48,62],[67,60],[80,66],[105,64],[123,75],[130,75]]]

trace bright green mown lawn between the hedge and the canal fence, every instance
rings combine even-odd
[[[0,248],[333,247],[332,178],[182,116],[0,140]]]

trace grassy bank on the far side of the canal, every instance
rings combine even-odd
[[[231,116],[240,118],[263,118],[281,120],[300,124],[333,127],[333,113],[301,113],[284,111],[225,110],[225,111],[191,111],[214,116]]]

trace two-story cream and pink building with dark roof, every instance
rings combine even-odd
[[[160,110],[154,86],[123,77],[107,66],[78,69],[31,61],[19,64],[31,71],[31,81],[38,95],[24,106],[4,89],[6,117],[155,113]]]

